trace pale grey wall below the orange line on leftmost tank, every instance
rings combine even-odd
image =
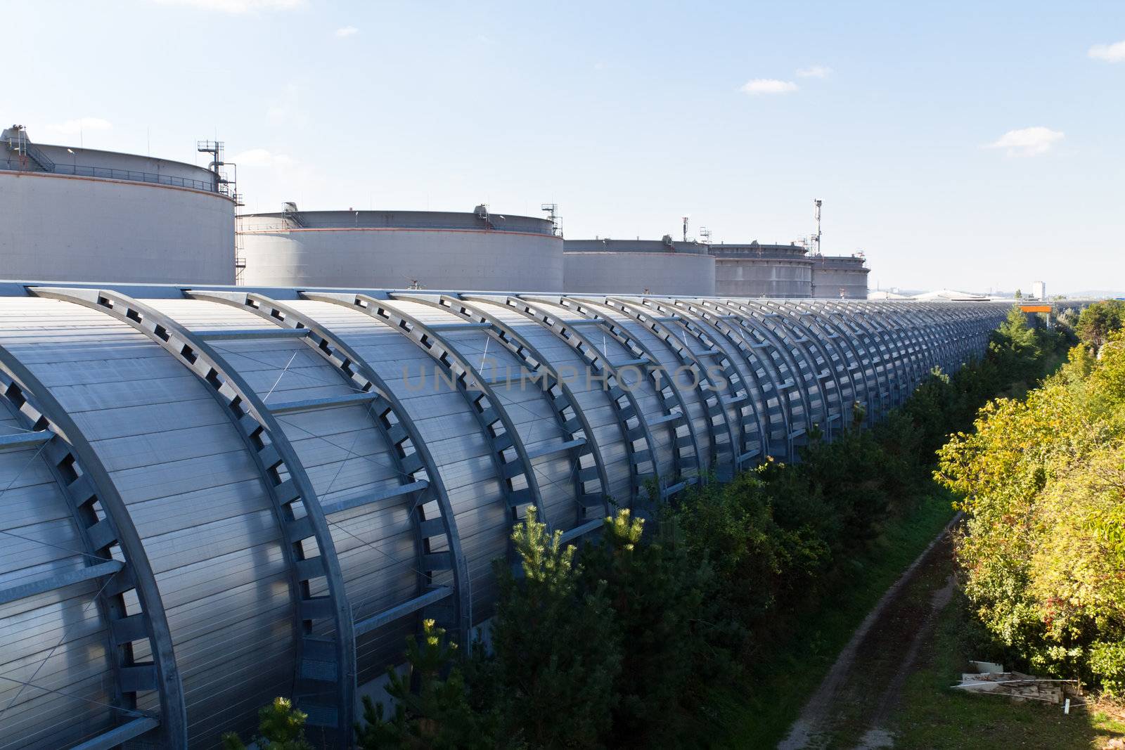
[[[0,170],[0,275],[233,283],[234,202],[187,188]]]

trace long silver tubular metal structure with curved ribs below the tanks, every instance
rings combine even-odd
[[[215,748],[279,695],[345,747],[421,617],[490,617],[528,505],[578,540],[794,460],[1006,310],[0,284],[0,747]]]

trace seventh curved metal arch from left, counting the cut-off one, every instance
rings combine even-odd
[[[521,297],[524,300],[536,300],[544,299],[537,298],[534,296]],[[670,378],[665,379],[665,383],[660,385],[659,374],[659,360],[656,355],[649,351],[642,342],[637,341],[628,331],[626,331],[616,320],[612,320],[604,315],[601,315],[596,310],[591,310],[586,307],[586,302],[583,302],[576,297],[558,297],[546,298],[544,301],[557,304],[564,309],[572,310],[580,315],[587,320],[592,320],[598,325],[602,331],[604,331],[610,337],[616,341],[619,344],[629,350],[632,354],[637,355],[638,359],[645,360],[642,367],[642,373],[652,385],[652,389],[656,391],[657,397],[660,400],[660,407],[664,412],[663,416],[670,416],[674,414],[673,409],[680,407],[680,413],[683,415],[682,424],[675,422],[668,423],[668,431],[672,435],[672,455],[673,466],[676,469],[676,484],[672,487],[662,487],[660,494],[664,497],[675,495],[680,490],[684,489],[688,484],[694,484],[703,479],[703,467],[700,464],[700,457],[702,452],[700,451],[699,436],[695,434],[695,427],[692,425],[691,413],[687,410],[687,405],[684,403],[683,396],[680,389],[675,387]],[[686,435],[680,435],[680,427],[687,430]],[[691,451],[687,454],[686,451]],[[656,467],[656,457],[652,457],[652,467]],[[688,475],[690,470],[694,470],[694,475]]]

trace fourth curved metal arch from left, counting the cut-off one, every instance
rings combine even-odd
[[[508,525],[522,521],[526,507],[534,505],[539,509],[540,519],[547,524],[548,528],[551,527],[547,508],[543,507],[542,495],[539,491],[539,481],[536,479],[536,472],[531,466],[531,458],[528,455],[520,433],[515,430],[507,410],[485,377],[461,356],[441,334],[414,316],[387,306],[385,304],[387,300],[351,292],[303,291],[300,293],[306,299],[332,302],[358,310],[397,331],[425,352],[453,382],[454,388],[465,399],[469,412],[472,413],[472,417],[480,426],[482,433],[488,440],[492,449],[488,455],[496,470],[496,478],[504,496]],[[474,395],[471,391],[476,391],[476,394]],[[508,451],[515,454],[514,458],[508,457]],[[516,480],[520,479],[526,485],[525,487],[515,487]],[[515,562],[514,553],[515,550],[511,539],[508,539],[508,557],[513,563]]]

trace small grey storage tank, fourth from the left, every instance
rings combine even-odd
[[[731,297],[812,296],[812,260],[795,243],[763,245],[720,243],[711,245],[716,256],[716,291]]]

